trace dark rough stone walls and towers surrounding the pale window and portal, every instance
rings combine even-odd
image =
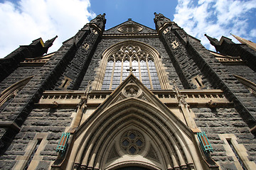
[[[173,107],[172,109],[175,105],[177,108],[174,111],[177,113],[184,109],[181,106],[186,106],[186,111],[194,113],[194,117],[192,115],[191,117],[193,117],[197,128],[206,132],[213,147],[213,153],[210,156],[204,155],[204,158],[217,162],[218,169],[237,169],[234,157],[230,156],[226,150],[228,142],[223,140],[223,135],[230,135],[238,145],[245,147],[243,152],[247,154],[248,162],[256,163],[256,98],[233,76],[236,74],[256,83],[255,65],[248,63],[221,64],[201,45],[200,40],[188,35],[169,18],[161,13],[155,13],[154,22],[156,30],[142,26],[131,19],[105,30],[106,19],[103,14],[87,23],[73,38],[63,42],[62,47],[43,66],[22,66],[20,62],[26,60],[28,54],[29,58],[41,57],[52,45],[53,39],[46,42],[47,49],[40,46],[41,39],[38,39],[34,40],[31,45],[19,47],[4,60],[0,60],[0,76],[3,78],[0,79],[0,92],[17,81],[33,76],[1,111],[0,169],[18,167],[21,164],[20,160],[23,160],[25,164],[28,156],[31,155],[30,148],[36,146],[36,141],[41,142],[42,145],[38,147],[39,156],[33,159],[37,162],[34,169],[52,169],[53,163],[57,164],[60,160],[64,160],[63,155],[55,152],[62,133],[68,130],[73,133],[77,130],[70,129],[70,127],[74,123],[73,120],[78,117],[78,113],[81,113],[79,121],[82,121],[82,118],[90,117],[90,115],[83,115],[84,111],[88,109],[89,114],[92,114],[98,106],[101,106],[100,102],[91,104],[91,108],[87,106],[88,96],[86,93],[89,92],[85,89],[89,88],[87,87],[88,82],[94,81],[97,76],[96,71],[100,67],[103,52],[113,45],[127,40],[142,42],[159,52],[159,60],[163,64],[161,69],[166,72],[171,86],[174,86],[173,80],[175,80],[178,89],[184,91],[207,91],[210,89],[223,91],[223,95],[228,99],[226,101],[229,102],[223,106],[199,106],[198,103],[188,106],[186,97],[178,94],[177,88],[166,90],[169,92],[176,90],[176,95],[180,95],[179,103],[169,103],[168,99],[165,102],[169,103],[169,106],[163,103],[167,107]],[[138,35],[120,33],[118,28],[126,25],[137,25],[142,28],[142,32],[139,32]],[[241,55],[241,57],[243,56],[242,60],[249,62],[253,56],[256,57],[256,52],[249,50],[245,45],[233,45],[227,39],[221,46],[218,44],[218,40],[213,43],[213,39],[208,39],[216,45],[216,49],[225,55]],[[231,54],[232,52],[226,50],[224,45],[237,49],[238,55]],[[253,60],[253,62],[255,61]],[[199,87],[195,82],[198,82]],[[82,91],[84,96],[78,98],[80,103],[77,106],[72,102],[61,106],[59,103],[40,104],[38,101],[41,100],[45,91],[57,93],[52,98],[58,98],[60,96],[58,93],[67,91],[74,94]],[[111,96],[112,91],[114,90],[94,91],[94,93],[95,96],[106,97],[106,95]],[[153,92],[166,95],[166,91],[156,90]],[[64,100],[68,97],[67,94],[62,98]],[[95,98],[99,99],[100,97]],[[172,96],[172,99],[174,98],[175,96]],[[170,98],[170,100],[172,99]],[[105,101],[102,98],[99,100],[102,100],[102,103]],[[195,129],[198,130],[197,128]],[[194,131],[195,136],[196,130]],[[69,145],[73,144],[69,143]],[[184,153],[181,152],[181,154]],[[187,160],[185,161],[187,162]],[[57,166],[60,167],[58,164]],[[209,169],[215,169],[215,164],[209,167]]]

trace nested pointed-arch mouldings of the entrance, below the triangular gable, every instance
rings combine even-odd
[[[151,169],[188,166],[202,169],[193,144],[193,133],[170,111],[161,111],[139,98],[128,98],[92,117],[76,133],[74,146],[77,147],[72,151],[75,159],[70,160],[68,169],[72,168],[73,163],[87,169],[116,169],[125,164],[149,166]],[[155,146],[161,162],[147,159],[146,150],[136,156],[138,159],[119,150],[122,157],[106,163],[106,151],[112,144],[119,143],[119,136],[131,128],[142,132],[149,139],[147,147],[149,144]]]

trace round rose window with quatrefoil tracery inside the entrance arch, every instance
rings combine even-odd
[[[122,135],[121,146],[127,154],[139,154],[144,149],[144,137],[137,130],[129,130]]]

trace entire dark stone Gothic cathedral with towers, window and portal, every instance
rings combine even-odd
[[[256,44],[154,15],[1,59],[0,169],[256,169]]]

